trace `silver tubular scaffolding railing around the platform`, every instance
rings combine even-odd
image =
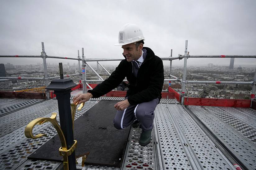
[[[26,57],[26,58],[43,58],[43,70],[44,70],[44,78],[39,77],[0,77],[0,79],[39,79],[39,80],[45,80],[45,85],[49,85],[49,80],[51,79],[57,79],[60,76],[56,77],[48,77],[47,74],[47,65],[46,65],[46,59],[47,58],[57,58],[57,59],[67,59],[67,60],[77,60],[78,61],[78,73],[79,74],[70,74],[70,75],[64,75],[64,77],[71,77],[71,76],[79,76],[80,83],[82,82],[83,87],[83,93],[87,93],[87,90],[85,90],[86,85],[89,87],[89,89],[92,89],[92,87],[89,86],[88,82],[102,82],[104,79],[101,77],[101,75],[110,75],[110,73],[107,71],[107,69],[100,64],[102,61],[121,61],[123,59],[86,59],[84,55],[84,48],[82,48],[82,58],[80,58],[79,50],[78,50],[78,56],[77,58],[71,58],[71,57],[57,57],[57,56],[48,56],[46,55],[45,49],[44,49],[44,43],[42,42],[42,52],[41,55],[0,55],[0,57]],[[172,60],[181,60],[184,58],[184,70],[183,70],[183,79],[179,79],[173,75],[171,75],[171,67],[172,67]],[[171,55],[169,57],[163,57],[162,60],[170,61],[170,70],[169,74],[165,75],[168,76],[169,79],[164,79],[164,81],[178,81],[182,85],[182,91],[181,91],[181,104],[184,105],[184,99],[185,99],[185,84],[186,83],[203,83],[203,84],[251,84],[252,92],[251,92],[251,102],[255,99],[255,92],[256,92],[256,68],[255,68],[255,74],[254,79],[251,82],[232,82],[232,81],[188,81],[186,80],[186,72],[187,72],[187,59],[188,58],[256,58],[256,55],[190,55],[188,52],[188,40],[185,41],[185,53],[184,55],[178,54],[178,57],[172,57],[172,49],[171,49]],[[80,69],[80,61],[82,61],[82,69]],[[97,71],[93,69],[93,67],[88,62],[97,62]],[[94,74],[97,75],[98,79],[94,80],[87,80],[86,75],[86,66],[88,66]],[[99,72],[99,66],[101,66],[107,74],[98,74]],[[89,75],[89,74],[88,74]],[[127,81],[124,79],[123,81]],[[50,93],[48,90],[46,90],[47,99],[50,99]]]

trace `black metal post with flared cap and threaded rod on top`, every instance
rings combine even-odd
[[[73,125],[71,117],[71,107],[70,107],[70,93],[71,88],[76,86],[76,84],[71,79],[63,79],[63,70],[60,64],[60,72],[62,72],[62,79],[54,79],[51,81],[46,89],[54,90],[54,94],[58,100],[58,109],[60,116],[60,126],[63,134],[66,138],[67,149],[69,149],[74,144],[74,134]],[[75,170],[75,151],[68,156],[69,170]]]

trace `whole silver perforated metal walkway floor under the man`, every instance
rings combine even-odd
[[[81,91],[73,91],[71,98]],[[123,97],[100,97],[85,103],[75,118],[81,116],[99,100],[122,100]],[[38,117],[58,113],[57,100],[39,101],[24,108],[12,108],[10,99],[0,99],[0,110],[9,107],[0,119],[0,169],[61,169],[62,163],[28,160],[27,156],[42,146],[57,132],[49,124],[37,125],[33,133],[46,133],[39,139],[25,138],[25,126]],[[19,101],[20,100],[20,101]],[[13,100],[22,103],[25,100]],[[27,101],[27,100],[26,100]],[[5,103],[5,104],[3,104]],[[15,110],[16,109],[16,110]],[[141,129],[130,132],[125,158],[120,169],[235,169],[235,163],[256,170],[256,111],[250,108],[220,108],[187,106],[174,99],[162,99],[155,110],[154,129],[149,145],[139,145]],[[57,117],[58,120],[58,117]],[[214,138],[213,138],[214,136]],[[226,152],[222,152],[221,145]],[[78,141],[79,142],[79,141]],[[221,147],[221,148],[220,148]],[[56,148],[57,149],[57,148]],[[225,156],[226,154],[232,155]],[[77,169],[114,170],[119,168],[86,165]]]

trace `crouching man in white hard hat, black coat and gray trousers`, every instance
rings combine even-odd
[[[130,124],[142,126],[139,144],[149,144],[153,129],[154,110],[161,99],[164,81],[163,63],[154,52],[143,47],[144,36],[141,29],[134,23],[125,24],[119,32],[119,45],[126,58],[120,62],[109,78],[98,84],[87,94],[74,97],[73,103],[88,101],[91,97],[100,97],[116,88],[125,77],[129,81],[129,90],[125,100],[114,105],[117,114],[114,126],[124,129]]]

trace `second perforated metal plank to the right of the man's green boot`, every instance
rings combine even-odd
[[[181,131],[183,142],[185,142],[183,144],[187,146],[185,150],[188,148],[188,151],[192,152],[190,162],[194,161],[199,169],[235,169],[181,105],[168,104],[167,106],[177,129]]]

